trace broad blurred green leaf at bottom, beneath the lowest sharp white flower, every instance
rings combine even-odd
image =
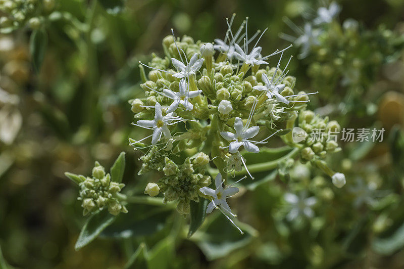
[[[206,221],[209,223],[204,226],[204,231],[197,231],[191,240],[204,252],[208,260],[225,257],[230,252],[245,247],[258,236],[258,231],[254,228],[237,221],[238,227],[244,232],[243,235],[240,234],[220,212],[215,212]]]

